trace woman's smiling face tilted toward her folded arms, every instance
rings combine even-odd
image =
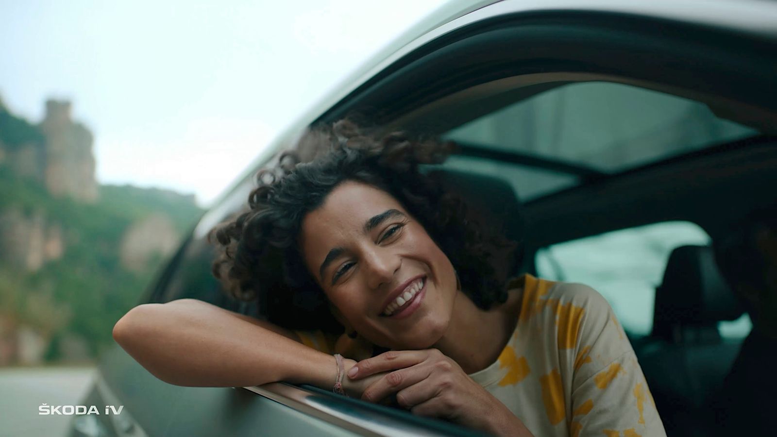
[[[435,344],[457,292],[451,261],[385,191],[335,187],[302,221],[302,256],[347,328],[386,348]]]

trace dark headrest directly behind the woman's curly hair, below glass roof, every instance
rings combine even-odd
[[[521,214],[521,202],[518,201],[512,185],[507,180],[439,168],[427,174],[434,180],[438,180],[446,190],[461,196],[467,205],[469,219],[475,219],[481,225],[496,229],[507,239],[516,242],[523,240],[524,218]],[[506,277],[517,274],[523,258],[522,247],[519,245],[518,250],[513,253],[499,253],[495,250],[496,258],[507,260],[505,263],[498,263],[495,260],[494,267],[497,274],[504,274]]]

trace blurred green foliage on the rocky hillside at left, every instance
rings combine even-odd
[[[2,118],[4,114],[0,107],[2,143],[39,138],[35,126]],[[112,344],[113,324],[138,303],[162,262],[157,258],[141,272],[127,270],[120,262],[124,232],[139,219],[162,213],[183,236],[202,213],[191,196],[131,186],[103,185],[94,204],[54,198],[40,182],[18,177],[0,164],[0,215],[9,209],[26,217],[43,215],[47,223],[58,225],[64,253],[32,273],[0,265],[0,316],[50,338],[57,331],[78,334],[93,353]],[[57,353],[50,350],[46,356],[56,359]]]

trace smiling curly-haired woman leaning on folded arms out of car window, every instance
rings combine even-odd
[[[664,435],[605,300],[584,285],[508,280],[494,266],[517,243],[420,172],[450,145],[349,121],[318,134],[326,152],[281,156],[249,211],[214,229],[214,274],[267,320],[190,299],[138,306],[114,337],[146,369],[179,385],[394,396],[496,435]]]

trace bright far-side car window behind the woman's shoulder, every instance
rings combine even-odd
[[[554,244],[536,255],[537,273],[554,281],[580,282],[601,293],[629,334],[650,334],[656,287],[675,247],[707,245],[692,222],[662,222]],[[750,320],[720,323],[723,337],[744,337]]]

